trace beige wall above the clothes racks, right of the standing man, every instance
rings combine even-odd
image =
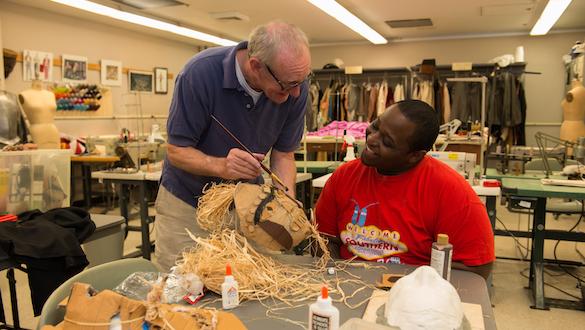
[[[434,58],[437,64],[452,62],[487,63],[502,54],[514,54],[524,46],[527,71],[540,75],[524,75],[527,98],[526,138],[534,144],[534,133],[545,131],[559,136],[562,121],[561,100],[565,95],[565,69],[561,56],[569,52],[585,33],[551,34],[541,37],[514,36],[481,39],[437,40],[392,43],[387,45],[356,45],[313,47],[313,68],[321,68],[334,58],[345,65],[364,68],[413,66],[423,59]]]

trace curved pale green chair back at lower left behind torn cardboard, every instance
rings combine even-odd
[[[57,325],[63,321],[65,310],[59,308],[58,305],[69,296],[73,283],[87,283],[98,291],[113,289],[134,272],[158,272],[158,269],[150,260],[131,258],[101,264],[71,277],[53,291],[43,305],[37,330],[40,330],[44,325]]]

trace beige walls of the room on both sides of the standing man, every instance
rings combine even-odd
[[[72,54],[86,56],[90,63],[99,60],[121,60],[124,67],[152,70],[167,67],[175,76],[196,53],[194,46],[178,41],[110,27],[105,24],[46,12],[40,9],[0,1],[0,22],[4,47],[21,52],[24,49],[53,52],[55,56]],[[438,64],[452,62],[486,63],[502,54],[514,54],[517,46],[524,46],[527,71],[541,75],[525,75],[528,103],[526,135],[528,144],[534,145],[534,133],[542,130],[558,136],[562,121],[560,102],[564,97],[564,67],[561,56],[585,33],[552,34],[541,37],[511,36],[498,38],[441,40],[392,43],[383,46],[354,45],[313,47],[313,68],[320,68],[333,58],[341,58],[345,65],[362,65],[364,68],[412,66],[425,58],[435,58]],[[29,87],[22,81],[22,65],[17,64],[6,80],[6,89],[18,93]],[[99,83],[99,72],[89,71],[89,82]],[[61,70],[54,67],[59,79]],[[114,114],[135,114],[127,109],[122,95],[127,93],[126,77],[122,87],[112,87]],[[173,92],[169,81],[167,95],[143,95],[144,114],[165,115]],[[144,121],[148,131],[151,120]],[[164,119],[155,122],[165,125]],[[122,127],[138,128],[133,119],[118,120],[57,120],[62,132],[73,135],[117,134]]]

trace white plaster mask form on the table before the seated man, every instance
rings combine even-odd
[[[429,266],[420,266],[396,281],[384,316],[401,330],[460,329],[463,306],[455,288]]]

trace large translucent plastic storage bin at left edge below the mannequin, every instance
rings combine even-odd
[[[70,150],[0,152],[0,212],[69,206]]]

